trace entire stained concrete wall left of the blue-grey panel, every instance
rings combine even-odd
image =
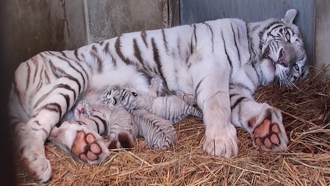
[[[2,9],[2,65],[17,66],[47,50],[72,50],[124,32],[179,25],[179,0],[8,0]],[[173,16],[176,16],[173,18]],[[5,29],[3,29],[5,28]]]

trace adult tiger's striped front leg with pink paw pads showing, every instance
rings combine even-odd
[[[256,103],[243,87],[230,86],[231,121],[246,129],[253,145],[264,151],[281,152],[288,144],[281,112],[266,103]]]

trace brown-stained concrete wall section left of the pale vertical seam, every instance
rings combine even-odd
[[[8,19],[1,27],[6,35],[2,63],[9,74],[39,52],[87,44],[83,10],[82,0],[8,1],[2,9]]]

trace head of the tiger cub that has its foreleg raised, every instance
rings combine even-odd
[[[120,90],[120,102],[127,110],[134,110],[141,109],[145,100],[133,87],[124,86]]]

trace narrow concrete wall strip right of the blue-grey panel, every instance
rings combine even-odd
[[[316,1],[315,67],[330,75],[330,0]]]

